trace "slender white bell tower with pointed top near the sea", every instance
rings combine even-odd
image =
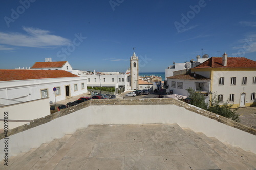
[[[139,58],[133,52],[130,59],[131,90],[139,89]]]

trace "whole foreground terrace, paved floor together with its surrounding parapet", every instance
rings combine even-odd
[[[175,99],[90,100],[11,129],[0,168],[255,169],[255,134]]]

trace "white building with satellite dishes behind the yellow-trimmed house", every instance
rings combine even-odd
[[[199,64],[205,62],[209,58],[208,54],[203,55],[203,58],[200,58],[200,55],[197,55],[197,61],[194,61],[193,59],[190,60],[190,62],[185,63],[173,63],[174,65],[170,65],[167,69],[165,69],[165,80],[167,80],[167,77],[173,76],[174,71],[179,70],[188,70],[190,68],[194,68],[198,66]]]

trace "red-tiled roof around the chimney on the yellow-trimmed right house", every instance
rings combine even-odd
[[[221,67],[256,67],[256,61],[247,59],[245,57],[228,57],[227,66],[222,65],[222,57],[211,57],[196,68],[221,68]]]

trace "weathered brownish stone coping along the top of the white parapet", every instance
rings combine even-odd
[[[31,122],[29,122],[25,125],[19,126],[17,128],[10,129],[10,130],[8,130],[8,136],[17,134],[19,132],[23,132],[25,130],[31,129],[33,127],[36,127],[36,126],[39,126],[42,124],[45,124],[47,122],[50,122],[53,119],[65,116],[67,114],[71,114],[77,110],[83,109],[88,106],[93,106],[93,105],[112,105],[112,106],[115,106],[115,105],[176,105],[179,107],[183,107],[189,111],[195,112],[197,114],[203,115],[205,117],[214,119],[214,120],[221,122],[223,124],[226,124],[228,126],[231,126],[231,127],[240,129],[242,131],[248,132],[250,134],[256,135],[256,130],[251,127],[242,125],[242,124],[240,124],[238,122],[234,122],[233,120],[228,119],[226,117],[217,115],[215,113],[206,111],[204,109],[195,107],[193,105],[187,104],[185,102],[182,102],[182,101],[179,101],[176,99],[172,99],[172,98],[166,98],[166,99],[165,98],[160,98],[160,99],[159,98],[151,98],[151,99],[150,98],[140,98],[140,99],[104,99],[104,100],[92,99],[92,100],[83,102],[81,104],[78,104],[76,106],[72,106],[70,108],[63,109],[54,114],[32,120]],[[5,137],[6,136],[4,133],[0,134],[0,139],[3,139]]]

